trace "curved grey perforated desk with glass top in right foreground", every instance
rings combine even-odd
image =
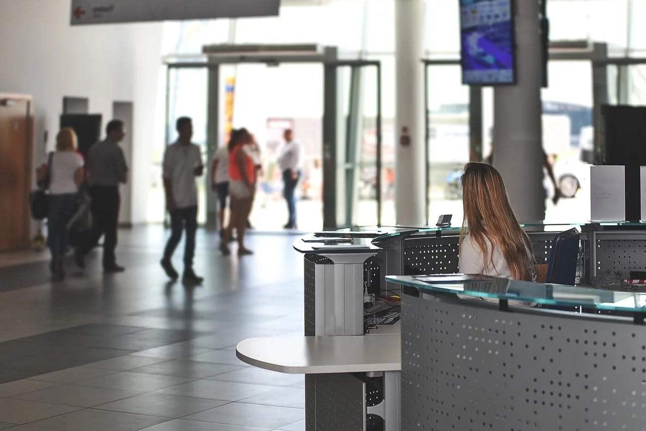
[[[646,295],[509,280],[463,291],[391,281],[406,286],[402,430],[646,430]],[[532,299],[636,318],[511,303]]]

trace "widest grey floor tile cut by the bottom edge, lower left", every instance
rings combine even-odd
[[[168,420],[165,417],[87,408],[78,412],[50,417],[31,425],[59,431],[136,431]]]

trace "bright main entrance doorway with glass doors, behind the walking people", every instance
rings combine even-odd
[[[282,131],[291,127],[304,148],[298,227],[380,225],[380,62],[340,61],[331,47],[264,46],[245,54],[237,51],[247,46],[216,48],[205,47],[207,61],[167,61],[167,142],[174,138],[174,119],[190,111],[194,140],[209,166],[231,127],[250,128],[265,155],[251,222],[277,230],[287,208],[275,157],[284,145]],[[285,109],[290,105],[296,113]],[[207,181],[200,186],[201,221],[216,228],[217,202]]]

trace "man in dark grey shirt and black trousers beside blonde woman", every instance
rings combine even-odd
[[[90,197],[92,204],[92,228],[81,239],[74,252],[76,264],[85,269],[85,256],[103,239],[103,272],[107,274],[123,272],[125,268],[117,265],[114,250],[117,246],[117,228],[121,197],[119,184],[128,182],[128,166],[119,143],[125,137],[121,120],[112,120],[106,127],[105,140],[94,144],[87,156],[87,175],[89,175]]]

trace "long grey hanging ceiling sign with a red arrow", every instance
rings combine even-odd
[[[277,16],[280,0],[72,0],[72,25]]]

